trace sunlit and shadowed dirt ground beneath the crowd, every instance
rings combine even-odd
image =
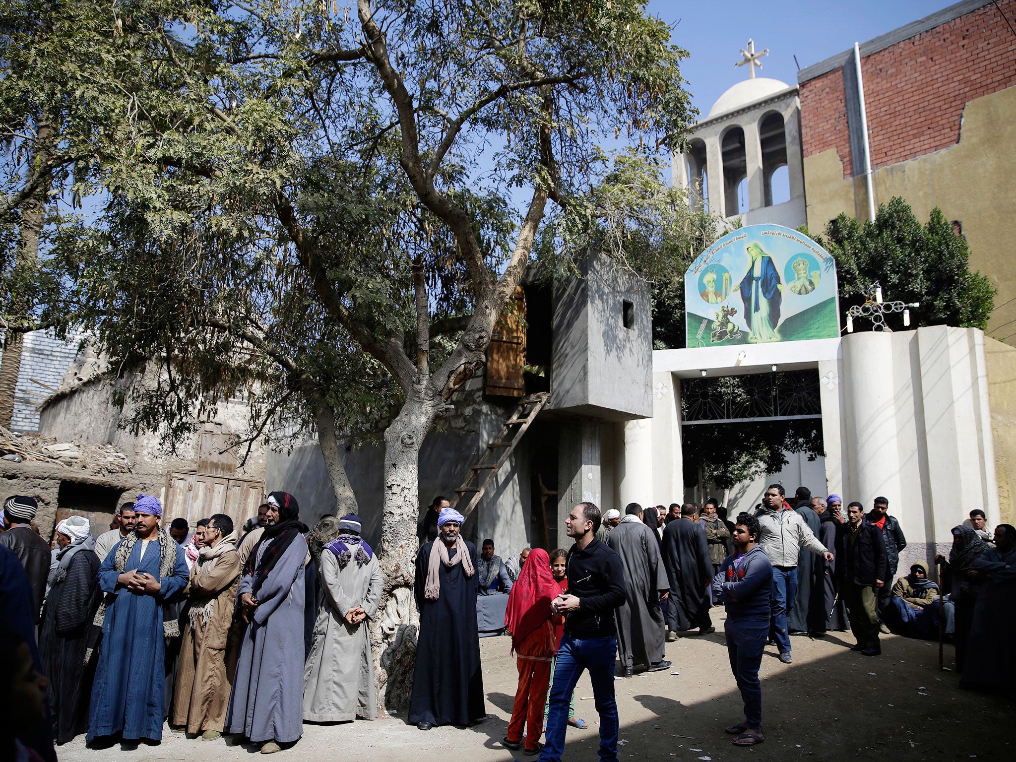
[[[722,614],[714,610],[721,619]],[[783,664],[775,648],[762,661],[763,724],[766,743],[754,749],[731,745],[723,726],[743,718],[723,645],[717,632],[668,643],[668,672],[616,683],[621,716],[619,757],[676,762],[853,762],[856,758],[910,761],[957,757],[1016,759],[1010,735],[1016,703],[998,696],[962,691],[955,672],[939,672],[938,644],[884,637],[882,655],[871,658],[848,650],[849,633],[823,639],[795,637],[793,663]],[[305,724],[303,739],[273,759],[338,758],[390,762],[509,762],[501,746],[515,694],[517,672],[507,638],[481,641],[488,718],[467,729],[418,731],[396,718],[343,724]],[[953,666],[946,646],[946,666]],[[677,675],[673,673],[679,673]],[[583,676],[575,691],[576,714],[587,731],[569,728],[566,760],[596,760],[598,723],[592,689]],[[253,746],[227,747],[171,735],[163,743],[136,749],[85,748],[81,736],[58,748],[65,762],[251,760]],[[530,759],[522,757],[520,759]]]

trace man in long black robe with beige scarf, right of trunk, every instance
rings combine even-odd
[[[459,534],[465,518],[438,514],[438,538],[417,554],[414,592],[420,612],[409,721],[471,725],[487,715],[477,630],[477,547]]]

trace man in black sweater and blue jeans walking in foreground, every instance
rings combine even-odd
[[[618,705],[614,700],[614,662],[618,654],[614,611],[625,602],[625,570],[621,557],[596,539],[599,509],[579,503],[565,519],[575,545],[568,552],[568,592],[551,605],[565,615],[565,634],[558,648],[554,685],[547,716],[541,762],[560,762],[568,726],[568,702],[583,670],[589,671],[599,713],[599,758],[618,759]]]

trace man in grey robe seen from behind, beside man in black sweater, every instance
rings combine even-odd
[[[650,510],[655,510],[650,507]],[[656,531],[642,523],[642,506],[629,503],[625,516],[607,535],[607,545],[625,568],[625,602],[617,611],[618,652],[626,678],[635,666],[649,672],[671,665],[663,658],[661,601],[670,594]]]

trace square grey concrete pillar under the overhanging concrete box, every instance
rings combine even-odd
[[[568,547],[565,519],[577,503],[600,499],[599,422],[588,418],[562,422],[558,444],[558,547]]]

